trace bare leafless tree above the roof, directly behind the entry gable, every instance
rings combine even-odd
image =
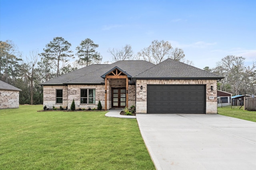
[[[128,60],[133,55],[131,45],[127,45],[127,44],[121,49],[116,49],[116,48],[108,49],[107,52],[112,55],[113,62],[120,61],[120,60]]]

